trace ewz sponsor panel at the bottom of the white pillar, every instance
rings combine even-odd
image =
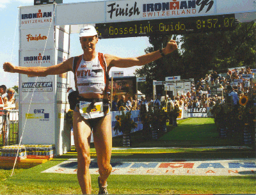
[[[56,126],[54,125],[54,103],[20,104],[19,108],[21,121],[27,121],[22,144],[55,143],[56,130],[54,127]]]

